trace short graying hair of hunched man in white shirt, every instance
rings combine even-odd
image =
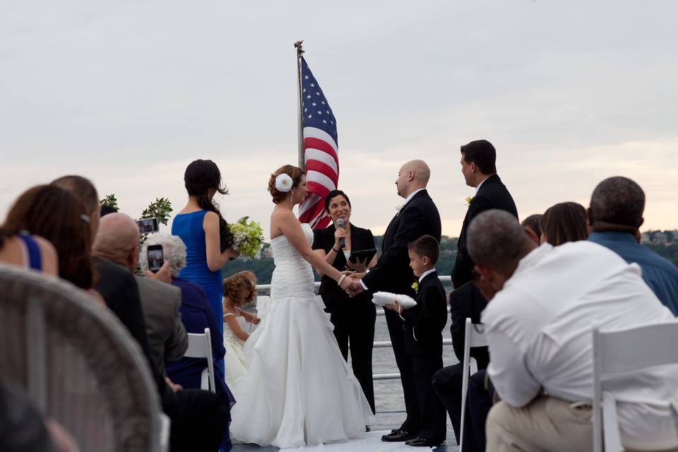
[[[473,261],[492,270],[514,267],[530,244],[518,218],[506,210],[486,210],[468,227],[466,246]]]

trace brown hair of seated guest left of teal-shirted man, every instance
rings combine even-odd
[[[586,209],[578,203],[557,203],[539,219],[540,242],[558,246],[585,240]]]

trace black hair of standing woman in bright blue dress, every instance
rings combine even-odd
[[[186,172],[184,172],[184,185],[189,196],[198,198],[198,206],[201,209],[219,215],[220,230],[225,229],[226,220],[210,197],[210,189],[218,191],[222,195],[228,194],[228,190],[221,180],[221,172],[217,164],[212,160],[201,159],[189,163]]]

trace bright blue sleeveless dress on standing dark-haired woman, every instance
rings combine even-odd
[[[221,269],[212,271],[207,266],[205,231],[203,230],[203,219],[206,213],[207,210],[198,210],[177,215],[172,222],[172,235],[178,235],[186,244],[186,267],[179,273],[179,278],[203,287],[217,319],[219,335],[223,337],[222,276]]]

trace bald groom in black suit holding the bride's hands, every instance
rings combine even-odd
[[[392,292],[415,296],[412,283],[415,275],[410,270],[408,244],[424,234],[440,242],[440,215],[429,196],[426,186],[431,170],[423,160],[411,160],[400,167],[396,187],[398,196],[405,198],[405,205],[393,217],[386,228],[381,244],[381,257],[362,280],[354,280],[350,290],[362,292]],[[408,441],[415,439],[422,429],[415,380],[412,374],[412,359],[403,343],[403,319],[395,311],[386,310],[388,335],[393,344],[396,364],[403,383],[405,410],[408,413],[400,428],[381,437],[383,441]]]

